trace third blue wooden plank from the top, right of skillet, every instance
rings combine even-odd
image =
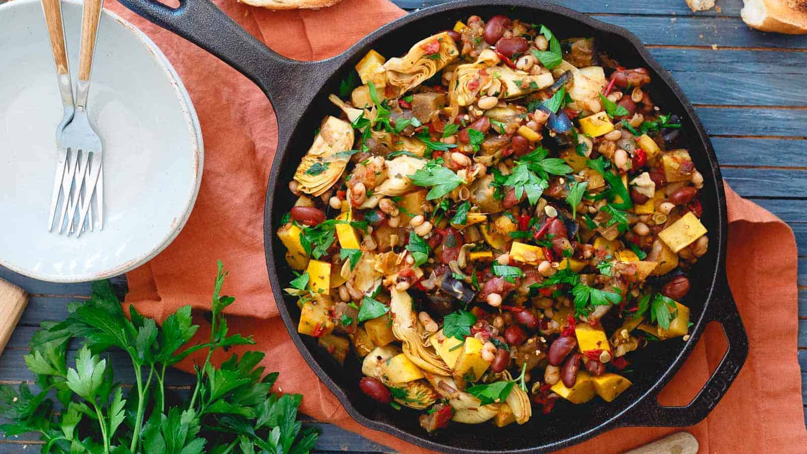
[[[718,48],[650,48],[650,53],[670,71],[700,71],[737,74],[807,74],[807,53],[751,51]]]

